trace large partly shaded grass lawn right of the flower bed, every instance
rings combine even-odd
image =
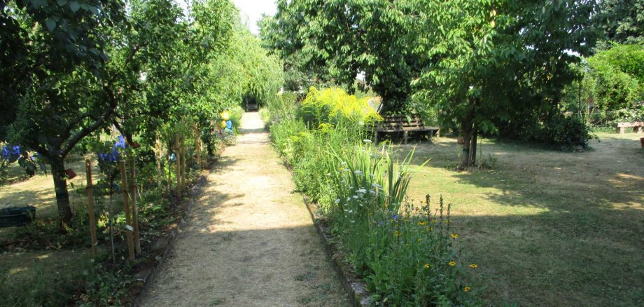
[[[452,204],[492,305],[644,306],[644,135],[598,137],[583,153],[486,139],[496,166],[465,172],[456,139],[418,144],[414,164],[431,161],[409,195]]]

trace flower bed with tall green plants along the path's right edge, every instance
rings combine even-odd
[[[334,98],[321,111],[342,101]],[[272,123],[272,143],[292,167],[297,189],[316,203],[346,263],[363,278],[371,303],[481,305],[482,287],[467,272],[477,265],[457,264],[449,206],[441,199],[432,212],[429,197],[422,205],[406,197],[413,153],[397,161],[391,148],[374,148],[363,139],[364,118],[311,114],[312,129],[288,116]]]

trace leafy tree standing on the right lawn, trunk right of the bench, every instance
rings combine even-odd
[[[570,63],[594,45],[593,1],[419,1],[416,52],[428,64],[416,98],[456,118],[461,168],[475,163],[479,131],[556,107]]]

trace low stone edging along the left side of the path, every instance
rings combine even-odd
[[[134,292],[131,294],[132,296],[134,296],[131,306],[133,307],[139,306],[139,304],[141,303],[141,299],[143,299],[143,296],[148,293],[148,290],[150,289],[152,282],[159,274],[159,271],[161,270],[163,263],[167,260],[169,252],[174,246],[174,241],[176,241],[177,236],[179,236],[179,230],[181,228],[184,228],[188,223],[186,221],[186,217],[188,217],[188,214],[190,214],[190,210],[193,209],[193,205],[196,202],[197,196],[200,196],[201,189],[204,186],[204,184],[207,182],[207,175],[210,172],[210,168],[207,170],[203,170],[203,172],[205,173],[202,173],[201,177],[197,179],[197,182],[195,182],[193,187],[190,189],[190,200],[188,200],[186,211],[183,212],[181,216],[181,220],[179,221],[179,224],[173,225],[172,229],[169,231],[169,233],[167,233],[167,235],[162,236],[161,238],[158,238],[155,241],[155,243],[153,243],[152,246],[157,247],[156,249],[163,250],[162,256],[156,259],[157,260],[156,265],[153,266],[153,268],[151,269],[144,268],[143,270],[134,273],[134,277],[136,278],[136,281],[134,282],[140,282],[143,285],[142,287],[139,287],[138,292]]]

